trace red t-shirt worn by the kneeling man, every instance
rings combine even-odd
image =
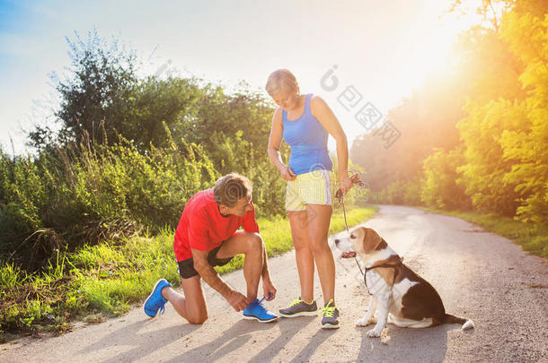
[[[223,217],[215,202],[213,188],[198,192],[185,205],[175,231],[175,258],[182,261],[192,257],[190,248],[211,251],[232,237],[240,226],[249,232],[259,232],[253,203],[252,210],[243,217],[234,214]]]

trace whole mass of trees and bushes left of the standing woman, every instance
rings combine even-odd
[[[95,30],[67,42],[58,126],[29,134],[35,155],[0,151],[0,259],[34,271],[65,248],[174,228],[192,194],[233,171],[252,180],[260,216],[285,212],[265,151],[273,108],[260,92],[139,78],[136,53]]]

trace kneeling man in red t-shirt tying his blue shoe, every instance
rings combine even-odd
[[[237,230],[243,226],[243,230]],[[143,306],[145,314],[154,317],[169,301],[177,313],[190,324],[202,324],[208,319],[201,279],[217,290],[235,311],[243,310],[243,317],[260,322],[278,318],[257,298],[262,277],[264,297],[276,297],[270,281],[267,254],[252,203],[252,184],[246,178],[231,173],[220,177],[213,188],[194,194],[185,205],[175,231],[173,243],[179,264],[184,296],[171,288],[165,279],[155,287]],[[243,278],[247,293],[232,289],[213,269],[228,264],[234,255],[245,255]]]

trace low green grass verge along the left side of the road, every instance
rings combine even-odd
[[[369,219],[376,207],[352,208],[349,226]],[[268,255],[293,248],[289,222],[278,217],[258,220]],[[340,212],[331,218],[330,233],[344,229]],[[63,332],[75,318],[93,323],[121,315],[150,293],[159,278],[179,285],[172,250],[173,233],[155,238],[137,237],[122,242],[84,246],[73,254],[57,253],[45,272],[28,275],[13,264],[0,265],[0,341],[13,333]],[[243,256],[217,267],[219,273],[241,268]]]

